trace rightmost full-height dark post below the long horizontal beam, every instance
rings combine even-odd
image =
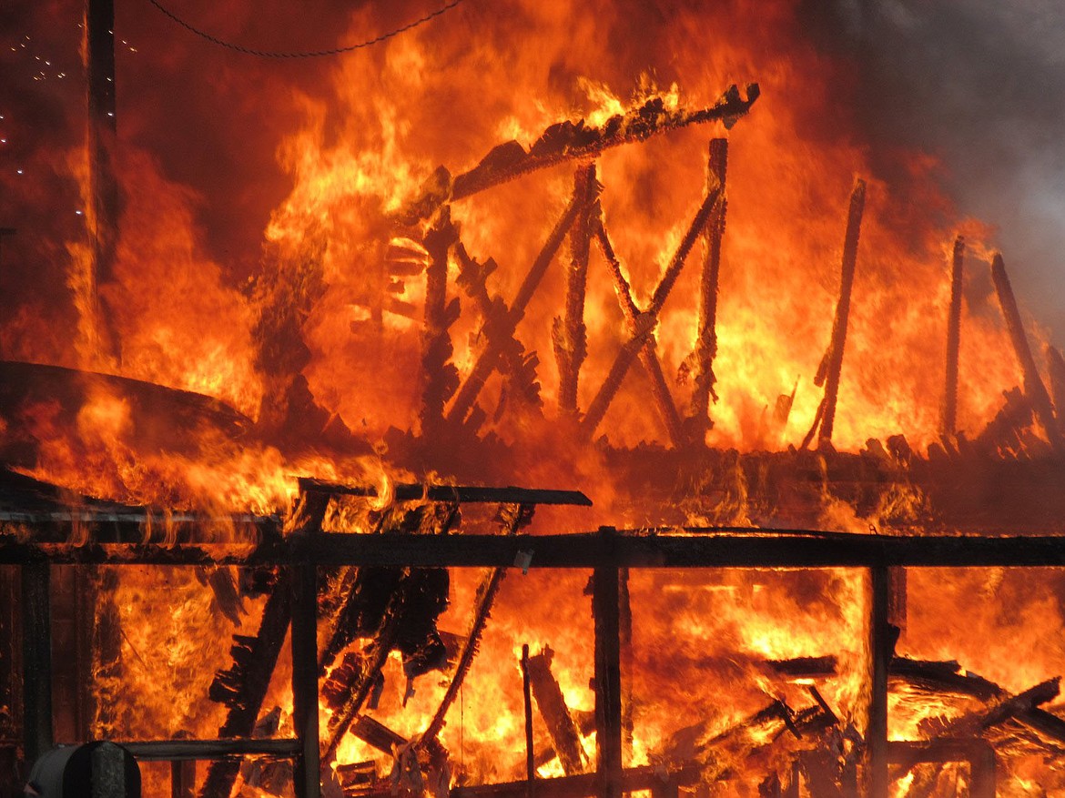
[[[869,798],[887,798],[887,671],[891,658],[890,573],[886,566],[869,569],[869,725],[866,766]]]

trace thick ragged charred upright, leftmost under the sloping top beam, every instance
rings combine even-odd
[[[448,328],[458,317],[457,301],[447,306],[447,256],[458,242],[458,227],[450,210],[441,210],[437,222],[423,239],[429,253],[425,269],[425,330],[422,334],[422,434],[432,434],[443,421],[444,405],[459,386],[458,369],[452,364]]]

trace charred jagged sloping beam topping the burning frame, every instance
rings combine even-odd
[[[744,100],[736,86],[730,86],[712,106],[699,111],[667,110],[661,98],[652,98],[639,109],[610,117],[600,128],[586,128],[584,120],[576,124],[561,122],[544,131],[530,151],[517,142],[499,145],[473,169],[455,178],[450,198],[464,199],[491,186],[514,178],[562,163],[595,157],[610,147],[642,142],[658,133],[676,130],[689,124],[722,121],[725,127],[744,116],[758,99],[758,84],[747,86]],[[416,216],[417,212],[408,216]]]

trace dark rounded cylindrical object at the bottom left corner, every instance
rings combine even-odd
[[[86,743],[38,757],[29,785],[42,798],[141,798],[141,768],[121,746]]]

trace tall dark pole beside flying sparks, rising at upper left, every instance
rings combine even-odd
[[[87,297],[95,318],[97,356],[117,355],[110,318],[100,306],[98,288],[114,279],[118,227],[115,179],[115,5],[114,0],[85,0],[85,67],[88,77],[88,173],[86,209],[93,236],[93,275]]]

